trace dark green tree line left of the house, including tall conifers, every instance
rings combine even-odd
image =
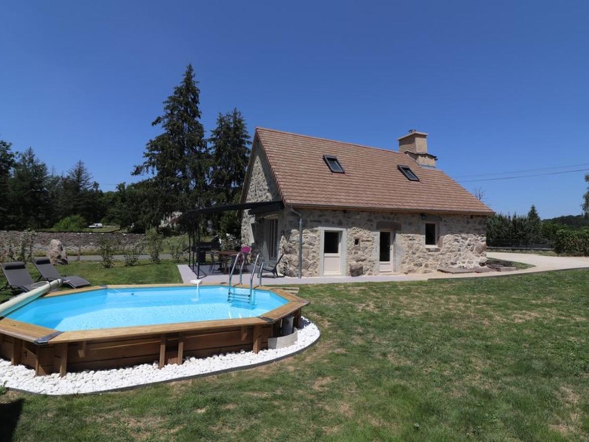
[[[141,232],[159,227],[174,212],[238,202],[246,173],[250,136],[237,108],[217,116],[210,137],[201,124],[200,90],[189,64],[183,80],[151,123],[162,133],[149,140],[145,176],[103,192],[82,161],[65,174],[49,172],[29,147],[22,153],[0,140],[0,229],[42,229],[103,222]],[[239,235],[235,212],[212,219],[222,232]],[[67,227],[66,227],[67,228]]]

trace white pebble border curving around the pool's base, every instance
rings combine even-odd
[[[154,361],[153,364],[128,368],[68,373],[60,378],[58,373],[35,376],[35,370],[31,368],[11,365],[9,361],[0,359],[0,385],[37,394],[83,394],[251,368],[286,358],[315,344],[320,337],[319,328],[306,318],[302,318],[301,322],[302,328],[299,330],[297,341],[289,347],[260,350],[257,354],[242,350],[239,353],[213,355],[208,358],[191,357],[185,358],[182,365],[170,364],[163,368],[158,368],[158,362]]]

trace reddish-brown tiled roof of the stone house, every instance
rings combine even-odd
[[[303,207],[470,213],[489,207],[441,170],[421,167],[398,151],[256,128],[284,203]],[[332,173],[323,155],[334,155],[345,173]],[[397,166],[409,166],[409,181]]]

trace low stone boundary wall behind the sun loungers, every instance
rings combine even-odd
[[[12,241],[18,246],[21,234],[19,230],[0,230],[0,249],[7,248]],[[143,233],[93,233],[93,232],[36,232],[33,253],[45,253],[49,246],[49,241],[58,239],[64,245],[67,253],[75,254],[80,248],[81,252],[97,250],[100,247],[102,238],[117,242],[120,247],[134,245],[145,239]]]

